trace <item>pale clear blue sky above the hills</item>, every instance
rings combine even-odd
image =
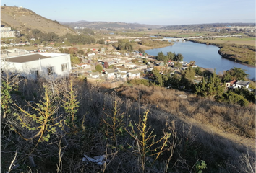
[[[149,25],[255,23],[256,0],[0,0],[59,22],[127,22]]]

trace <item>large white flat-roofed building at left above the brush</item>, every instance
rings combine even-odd
[[[29,79],[69,76],[70,55],[64,53],[30,53],[0,59],[0,67]]]

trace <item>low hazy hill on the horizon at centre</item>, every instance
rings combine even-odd
[[[146,25],[138,23],[125,23],[125,22],[88,22],[85,20],[77,22],[61,22],[64,25],[69,25],[70,27],[87,27],[90,29],[115,29],[115,30],[124,30],[124,29],[148,29],[148,28],[160,28],[163,25]]]

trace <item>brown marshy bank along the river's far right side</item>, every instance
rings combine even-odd
[[[223,58],[229,59],[236,63],[241,63],[244,66],[256,67],[256,48],[250,45],[235,45],[235,44],[220,44],[220,43],[209,43],[208,41],[202,40],[188,40],[193,43],[200,43],[206,45],[216,45],[220,50],[220,54]]]

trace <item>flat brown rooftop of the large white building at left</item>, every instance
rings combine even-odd
[[[32,54],[27,54],[24,56],[16,56],[16,57],[9,57],[6,58],[5,61],[12,62],[12,63],[25,63],[29,61],[36,61],[40,59],[46,59],[46,58],[51,58],[51,56],[43,56],[39,53],[32,53]]]

